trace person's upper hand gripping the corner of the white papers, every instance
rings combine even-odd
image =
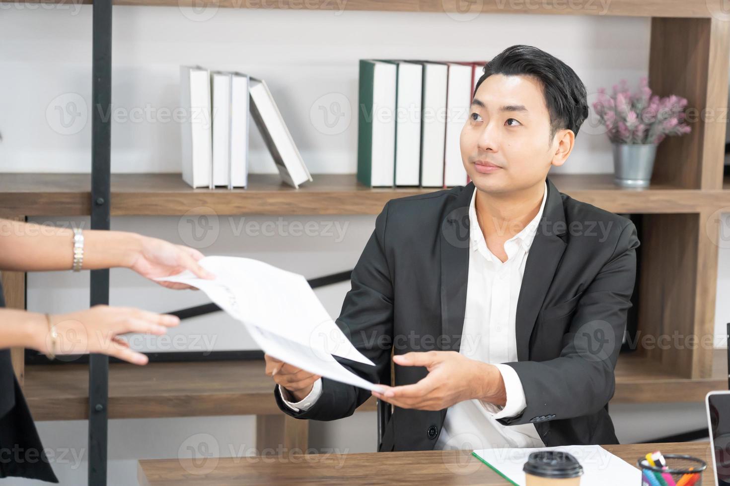
[[[194,248],[175,245],[158,238],[137,235],[139,244],[132,252],[127,266],[143,277],[154,279],[177,275],[190,270],[199,278],[215,278],[215,275],[200,266],[198,260],[203,254]],[[153,280],[154,281],[154,280]],[[194,289],[185,283],[154,281],[168,289]]]

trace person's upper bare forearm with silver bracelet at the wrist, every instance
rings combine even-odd
[[[139,252],[131,232],[84,230],[82,268],[128,267]],[[71,270],[73,230],[0,219],[0,270]]]

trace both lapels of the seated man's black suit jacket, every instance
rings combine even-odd
[[[530,247],[520,287],[515,318],[519,361],[529,359],[529,342],[537,313],[553,281],[565,251],[566,233],[563,199],[550,179],[545,210]],[[469,204],[475,191],[470,182],[445,210],[439,245],[441,252],[442,350],[458,351],[464,328],[466,286],[469,279]]]

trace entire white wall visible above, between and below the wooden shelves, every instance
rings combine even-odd
[[[191,20],[211,13],[208,20]],[[532,44],[572,66],[591,94],[622,77],[637,82],[648,68],[649,20],[643,18],[482,15],[465,21],[464,17],[432,13],[244,9],[198,14],[173,7],[115,7],[115,173],[180,171],[179,129],[174,122],[166,122],[160,111],[177,104],[180,64],[236,69],[266,79],[315,174],[356,171],[356,114],[351,109],[357,103],[359,58],[485,60],[512,44]],[[0,173],[87,172],[91,160],[91,7],[0,4],[0,72]],[[339,103],[345,116],[335,125],[338,133],[329,135],[325,124],[334,118],[325,119],[323,113],[334,117],[334,103]],[[66,113],[66,127],[61,125],[58,109]],[[140,110],[142,122],[120,121]],[[72,112],[80,115],[72,119]],[[575,152],[561,171],[612,171],[607,140],[591,131],[584,125]],[[252,130],[251,136],[253,171],[274,172],[258,133]],[[374,224],[373,216],[299,216],[281,221],[285,225],[294,220],[318,222],[320,234],[253,236],[237,232],[237,228],[250,221],[279,224],[279,219],[234,217],[231,224],[231,219],[221,216],[218,237],[201,249],[206,254],[253,256],[312,278],[352,268]],[[88,219],[34,221],[88,227]],[[337,231],[326,234],[326,228],[335,224],[344,231],[342,238]],[[172,217],[112,218],[113,229],[195,244],[186,225],[184,219]],[[730,251],[721,248],[718,296],[730,288],[729,259]],[[111,283],[112,305],[165,311],[205,302],[200,293],[160,289],[126,270],[112,270]],[[28,307],[51,312],[84,307],[88,305],[87,289],[88,275],[32,274],[28,276]],[[333,316],[339,313],[347,289],[345,283],[318,290]],[[718,329],[726,321],[730,321],[730,307],[718,298]],[[187,349],[198,349],[200,342],[216,350],[253,348],[245,332],[221,313],[186,321],[172,334],[196,337],[197,342],[191,338],[184,343]],[[169,350],[169,343],[160,340],[139,340],[138,344],[145,350]],[[619,438],[625,442],[704,425],[702,407],[696,404],[621,405],[612,407],[612,415]],[[311,445],[320,450],[372,451],[374,421],[373,412],[358,412],[336,423],[312,423]],[[680,425],[668,425],[672,423]],[[58,455],[71,449],[75,457],[82,458],[76,463],[74,455],[66,453],[64,460],[55,463],[62,484],[84,484],[86,423],[39,423],[39,431],[45,446]],[[253,445],[254,431],[251,417],[111,420],[110,484],[136,484],[137,458],[177,457],[188,445],[217,445],[220,455],[231,455],[231,447],[234,452],[245,451]],[[9,480],[8,484],[31,482]]]

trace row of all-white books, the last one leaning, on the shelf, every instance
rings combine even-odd
[[[312,176],[263,79],[180,66],[183,181],[191,187],[247,187],[249,111],[282,180],[293,187]]]

